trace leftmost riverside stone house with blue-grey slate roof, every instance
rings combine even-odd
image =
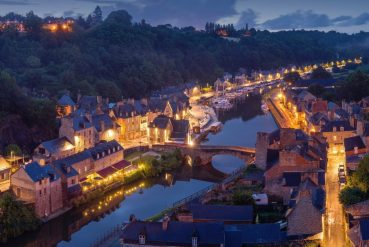
[[[32,162],[22,166],[11,176],[10,184],[16,197],[34,205],[41,218],[63,208],[61,179],[51,165]]]

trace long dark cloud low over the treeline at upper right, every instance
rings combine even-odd
[[[281,15],[277,18],[267,20],[260,26],[272,30],[281,30],[328,27],[330,25],[332,25],[332,21],[325,14],[317,14],[312,10],[298,10],[290,14]]]

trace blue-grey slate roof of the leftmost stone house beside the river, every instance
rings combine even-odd
[[[24,169],[33,182],[40,181],[44,178],[50,178],[52,181],[55,181],[59,178],[59,175],[52,166],[41,166],[38,162],[29,163],[22,169]]]

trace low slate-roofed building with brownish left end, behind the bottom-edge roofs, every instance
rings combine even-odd
[[[224,224],[251,224],[253,206],[189,204],[176,217],[183,222],[223,222]],[[188,211],[187,211],[188,210]]]

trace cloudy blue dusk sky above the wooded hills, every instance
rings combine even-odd
[[[271,31],[369,31],[369,0],[0,0],[0,15],[33,10],[41,17],[87,16],[96,5],[105,16],[125,9],[135,21],[152,25],[203,29],[212,21]]]

